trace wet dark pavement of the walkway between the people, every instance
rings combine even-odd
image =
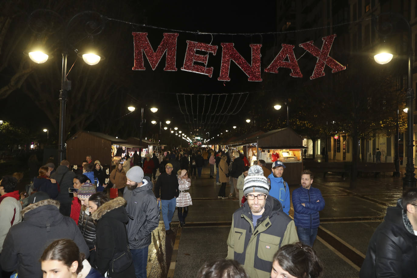
[[[178,227],[175,211],[173,234],[165,235],[162,217],[152,233],[148,277],[196,277],[204,262],[227,255],[231,215],[239,202],[217,198],[220,185],[208,178],[208,168],[203,168],[202,177],[191,183],[193,205],[189,207],[186,226]],[[324,265],[320,277],[359,277],[369,239],[382,222],[387,206],[396,205],[402,194],[401,178],[361,177],[356,185],[349,189],[349,179],[337,175],[314,178],[313,186],[321,190],[326,201],[313,246]],[[296,187],[290,186],[291,193]],[[226,193],[229,190],[228,184]],[[290,216],[293,215],[291,204]]]

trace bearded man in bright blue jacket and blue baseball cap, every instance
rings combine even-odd
[[[276,160],[272,163],[272,173],[268,176],[267,181],[270,186],[269,195],[279,200],[282,205],[282,210],[286,215],[289,215],[289,187],[288,184],[282,179],[284,173],[284,163]]]

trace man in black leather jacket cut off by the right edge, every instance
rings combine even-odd
[[[359,277],[417,277],[416,249],[417,188],[412,188],[396,207],[387,208],[369,240]]]

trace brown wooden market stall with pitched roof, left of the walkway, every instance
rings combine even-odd
[[[104,133],[81,130],[67,140],[67,160],[71,165],[81,165],[87,155],[101,165],[116,165],[125,160],[129,148],[143,148],[127,140]]]

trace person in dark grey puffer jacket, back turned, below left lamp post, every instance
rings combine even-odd
[[[73,187],[75,173],[70,171],[70,163],[68,160],[61,161],[61,165],[56,168],[56,171],[51,175],[51,178],[56,180],[60,188],[60,192],[55,198],[60,202],[59,212],[64,216],[70,216],[73,194],[71,193],[70,195],[70,193],[68,193],[68,188]]]

